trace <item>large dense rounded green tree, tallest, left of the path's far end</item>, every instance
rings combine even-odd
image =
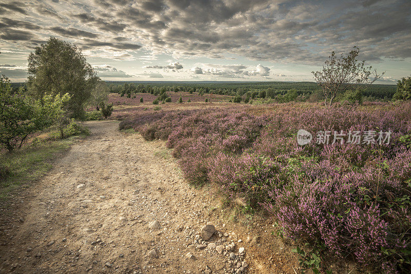
[[[28,89],[35,99],[68,92],[68,110],[82,118],[99,77],[76,45],[50,37],[28,57]]]

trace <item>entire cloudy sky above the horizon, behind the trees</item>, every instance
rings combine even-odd
[[[353,46],[378,83],[411,75],[409,0],[0,0],[0,74],[25,81],[50,36],[111,81],[313,81]]]

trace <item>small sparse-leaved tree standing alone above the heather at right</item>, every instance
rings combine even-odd
[[[371,70],[371,66],[365,66],[365,61],[357,61],[359,53],[360,48],[357,46],[354,46],[347,56],[341,54],[340,57],[337,57],[332,51],[328,60],[325,61],[323,69],[312,71],[315,82],[322,88],[326,106],[328,99],[328,105],[331,106],[338,93],[366,88],[385,73],[377,74],[376,69]]]

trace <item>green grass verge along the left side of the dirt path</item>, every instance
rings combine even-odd
[[[67,151],[78,138],[71,136],[64,140],[43,142],[39,146],[28,146],[1,155],[0,167],[8,169],[8,176],[0,181],[0,200],[6,200],[11,192],[41,178],[51,169],[52,161]]]

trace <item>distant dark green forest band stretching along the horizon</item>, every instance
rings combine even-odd
[[[252,99],[273,99],[278,102],[323,100],[321,89],[313,82],[108,82],[109,91],[121,96],[132,97],[134,93],[190,92],[233,96],[233,101],[248,102]],[[396,85],[372,85],[364,89],[360,96],[363,101],[388,101],[393,98]],[[340,100],[352,94],[340,94]],[[358,94],[357,94],[358,96]],[[239,97],[241,97],[239,99]]]

